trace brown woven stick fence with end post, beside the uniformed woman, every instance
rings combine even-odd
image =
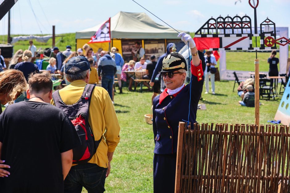
[[[176,193],[289,193],[286,125],[179,123]]]

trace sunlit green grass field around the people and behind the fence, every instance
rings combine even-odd
[[[2,39],[0,36],[0,43]],[[7,36],[4,39],[6,41]],[[56,42],[59,39],[56,38]],[[51,44],[51,39],[47,44],[35,42],[38,48],[51,47]],[[14,50],[27,49],[28,45],[28,41],[15,43]],[[56,44],[60,50],[64,50],[66,45],[71,45],[73,50],[75,49],[74,34],[65,34],[63,40]],[[269,55],[270,52],[258,53],[260,71],[268,71]],[[254,71],[255,52],[227,52],[226,58],[227,69]],[[236,89],[232,92],[234,82],[219,81],[215,84],[216,95],[202,94],[204,100],[201,103],[206,105],[207,110],[197,111],[197,121],[254,124],[255,109],[238,104],[240,98]],[[144,115],[150,113],[151,94],[125,90],[124,94],[115,95],[114,107],[121,127],[121,141],[111,162],[111,174],[106,179],[106,192],[153,192],[154,139],[152,125],[148,125],[144,119]],[[274,119],[280,99],[281,95],[275,101],[260,101],[263,103],[260,106],[260,124],[266,125],[268,120]]]

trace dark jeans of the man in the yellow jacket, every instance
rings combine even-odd
[[[107,168],[93,163],[72,166],[64,179],[64,193],[81,193],[82,188],[88,193],[105,191]]]

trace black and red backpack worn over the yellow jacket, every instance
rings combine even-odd
[[[94,88],[93,84],[87,84],[80,100],[73,105],[66,105],[62,101],[59,90],[52,93],[54,104],[62,109],[72,121],[81,140],[81,146],[73,149],[73,164],[88,162],[96,153],[102,140],[101,136],[101,139],[95,141],[93,131],[89,125],[89,105]]]

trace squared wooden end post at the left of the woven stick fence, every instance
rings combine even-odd
[[[182,146],[183,146],[183,132],[185,123],[179,122],[177,153],[176,153],[176,170],[175,170],[175,193],[180,192],[180,179],[181,179],[181,162],[182,162]]]

